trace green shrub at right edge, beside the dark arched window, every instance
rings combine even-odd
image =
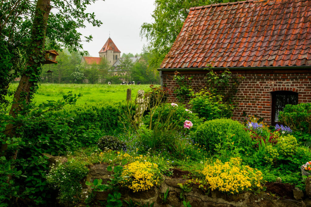
[[[286,105],[279,114],[279,122],[294,131],[302,130],[311,133],[311,103]]]

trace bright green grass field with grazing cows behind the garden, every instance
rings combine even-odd
[[[10,85],[10,89],[16,89],[18,83]],[[149,85],[108,85],[108,84],[40,84],[35,94],[34,102],[41,103],[46,100],[62,99],[63,94],[72,91],[73,94],[81,93],[83,96],[77,100],[77,104],[118,102],[126,100],[127,89],[132,89],[132,98],[135,99],[138,90],[145,92],[150,90]]]

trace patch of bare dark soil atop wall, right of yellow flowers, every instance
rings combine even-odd
[[[294,185],[288,183],[267,182],[265,187],[267,187],[266,193],[269,193],[270,195],[275,194],[283,199],[294,199]]]

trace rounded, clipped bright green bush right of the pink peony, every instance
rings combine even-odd
[[[231,135],[235,136],[231,136]],[[232,137],[236,137],[235,142],[239,146],[248,146],[250,136],[244,126],[238,121],[231,119],[214,119],[204,122],[195,132],[194,141],[200,145],[205,145],[207,151],[215,152],[215,146],[220,142],[233,142]]]

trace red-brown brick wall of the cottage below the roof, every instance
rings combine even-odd
[[[179,72],[187,78],[193,76],[191,83],[193,89],[204,87],[206,70]],[[294,91],[298,93],[298,103],[311,102],[311,70],[231,70],[231,72],[232,76],[242,75],[245,77],[236,94],[239,99],[239,107],[233,113],[233,118],[236,120],[242,121],[244,119],[243,111],[245,111],[247,115],[256,114],[271,124],[272,91]],[[163,85],[171,90],[169,102],[177,102],[173,93],[176,86],[173,76],[174,71],[162,71]]]

